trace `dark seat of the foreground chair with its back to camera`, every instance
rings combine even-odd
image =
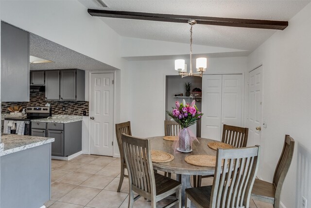
[[[202,208],[209,208],[211,192],[212,186],[186,189],[188,198],[192,202],[197,202],[196,205],[199,204]]]

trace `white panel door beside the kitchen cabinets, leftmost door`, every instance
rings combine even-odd
[[[113,154],[113,74],[91,74],[90,149],[91,154]]]

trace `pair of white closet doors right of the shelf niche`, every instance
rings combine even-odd
[[[204,75],[201,137],[221,140],[223,125],[242,126],[242,75]]]

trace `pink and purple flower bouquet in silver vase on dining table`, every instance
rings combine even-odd
[[[190,152],[192,151],[192,141],[195,140],[196,137],[193,133],[191,133],[193,134],[193,136],[191,136],[187,128],[195,124],[196,121],[202,117],[203,113],[199,112],[195,105],[195,100],[193,100],[191,104],[186,104],[186,101],[183,99],[182,103],[176,101],[175,105],[176,107],[173,107],[172,112],[166,111],[166,113],[171,116],[181,127],[178,141],[176,143],[174,142],[173,146],[177,151]]]

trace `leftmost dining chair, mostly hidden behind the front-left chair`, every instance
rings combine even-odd
[[[117,135],[117,142],[118,142],[118,147],[120,151],[120,161],[121,161],[120,181],[119,181],[119,187],[118,187],[117,192],[120,192],[121,190],[123,179],[128,178],[128,175],[124,174],[124,171],[127,168],[126,168],[126,163],[125,163],[125,159],[123,155],[123,146],[122,146],[122,138],[121,138],[122,133],[125,133],[127,135],[132,135],[130,121],[116,124],[116,135]]]

